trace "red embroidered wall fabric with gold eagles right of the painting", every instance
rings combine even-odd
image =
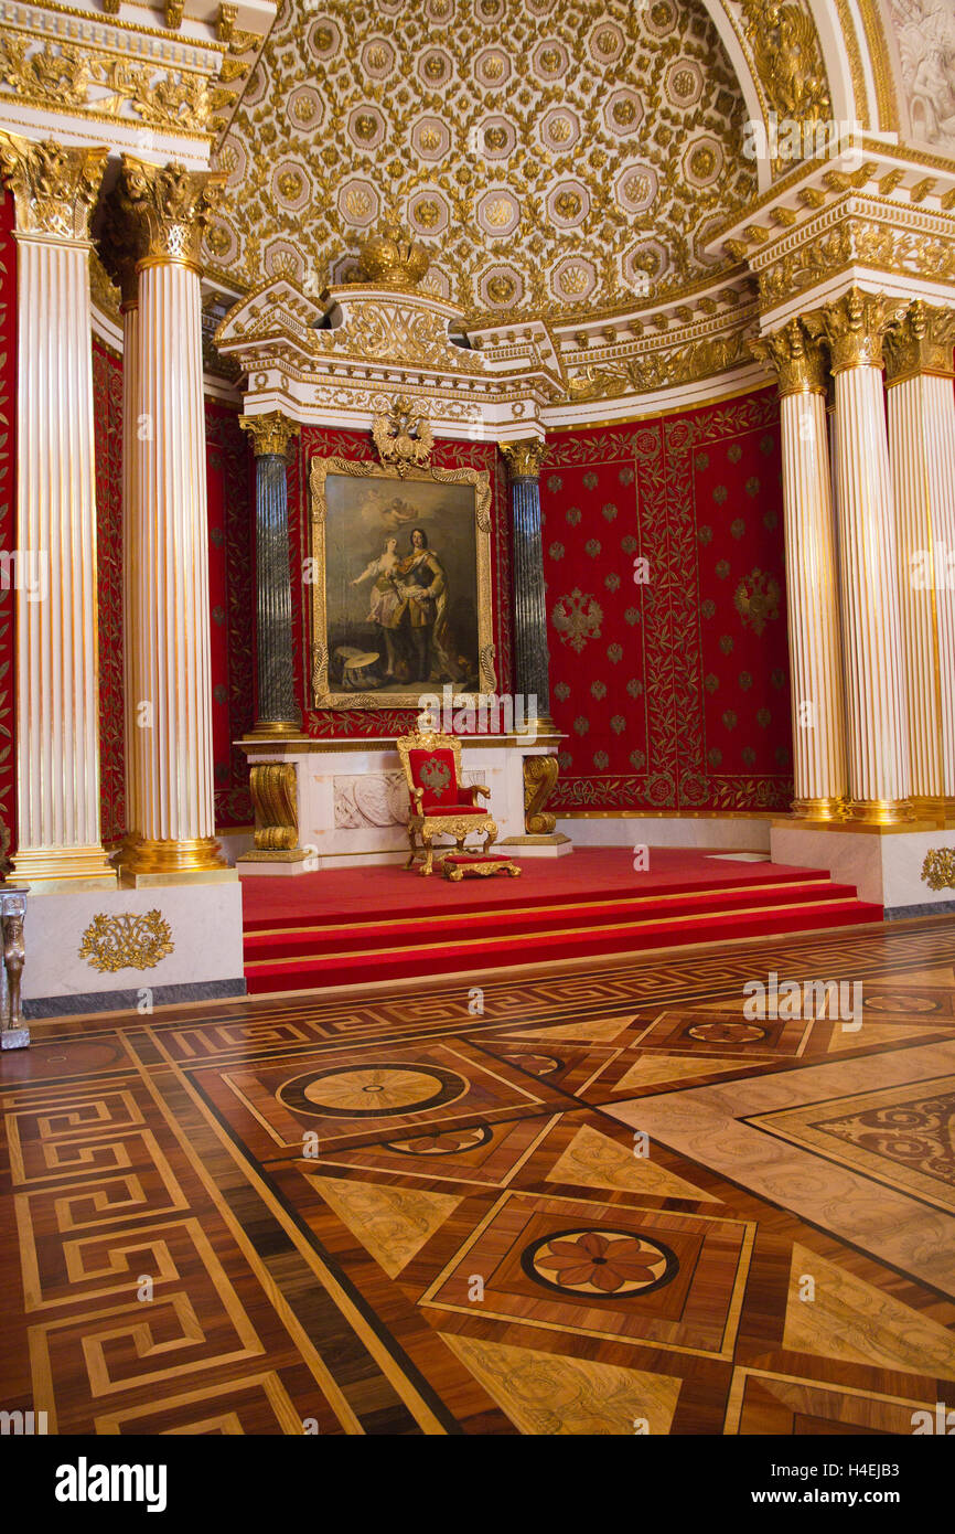
[[[552,807],[788,808],[776,391],[550,442]]]

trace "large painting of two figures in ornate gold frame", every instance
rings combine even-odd
[[[310,486],[316,709],[492,693],[487,472],[313,459]]]

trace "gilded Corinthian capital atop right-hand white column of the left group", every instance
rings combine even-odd
[[[150,166],[123,155],[117,212],[138,242],[139,265],[179,262],[199,270],[202,230],[225,178],[185,166]]]

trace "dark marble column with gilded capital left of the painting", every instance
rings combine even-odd
[[[288,445],[297,425],[273,410],[239,422],[256,454],[256,650],[259,706],[253,735],[300,735],[291,664]]]

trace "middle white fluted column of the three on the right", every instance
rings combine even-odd
[[[843,672],[851,819],[912,818],[895,503],[881,351],[897,305],[852,287],[822,325],[835,377]]]

